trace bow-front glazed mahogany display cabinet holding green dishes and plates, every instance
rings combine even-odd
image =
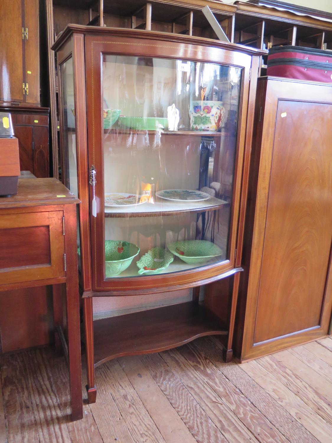
[[[216,334],[229,360],[263,52],[80,25],[53,49],[63,179],[81,200],[89,401],[94,368],[122,355]],[[191,288],[188,303],[93,321],[93,297]]]

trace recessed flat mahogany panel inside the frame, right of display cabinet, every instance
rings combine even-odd
[[[331,109],[278,101],[254,343],[320,325],[332,233]]]

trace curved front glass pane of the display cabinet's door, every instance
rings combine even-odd
[[[242,70],[103,55],[105,276],[229,258]]]

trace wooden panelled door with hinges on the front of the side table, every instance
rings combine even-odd
[[[0,285],[64,277],[62,211],[0,215]]]

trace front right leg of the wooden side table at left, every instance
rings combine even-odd
[[[66,314],[72,419],[83,417],[80,306],[77,270],[76,205],[67,205],[65,215]]]

